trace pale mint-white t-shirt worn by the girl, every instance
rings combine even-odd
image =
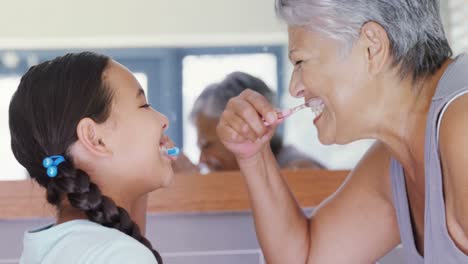
[[[143,244],[117,229],[73,220],[27,231],[21,264],[157,264]]]

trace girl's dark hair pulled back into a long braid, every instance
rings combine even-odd
[[[83,52],[31,67],[10,102],[11,147],[29,175],[46,189],[50,204],[60,208],[63,199],[68,199],[89,220],[141,242],[162,264],[128,212],[103,195],[88,174],[74,166],[69,153],[78,140],[76,127],[81,119],[102,123],[110,115],[112,93],[103,81],[109,61],[106,56]],[[51,155],[66,160],[55,178],[49,178],[42,166],[42,160]]]

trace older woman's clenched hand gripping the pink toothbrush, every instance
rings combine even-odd
[[[273,125],[265,125],[265,121]],[[242,161],[268,147],[278,123],[276,111],[270,102],[257,92],[245,90],[229,100],[218,123],[217,133],[226,148],[238,161]]]

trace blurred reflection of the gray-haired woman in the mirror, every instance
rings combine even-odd
[[[195,101],[191,119],[197,128],[200,164],[210,171],[239,170],[234,155],[216,135],[216,125],[227,102],[248,88],[265,96],[269,102],[274,101],[274,92],[262,80],[243,72],[233,72],[223,81],[208,86]],[[295,147],[284,145],[278,134],[273,136],[270,146],[281,168],[323,168]],[[175,168],[181,162],[177,161]]]

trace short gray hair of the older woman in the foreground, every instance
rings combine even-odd
[[[402,78],[433,74],[452,56],[438,0],[276,0],[275,7],[287,24],[336,39],[348,51],[365,23],[379,23]]]

